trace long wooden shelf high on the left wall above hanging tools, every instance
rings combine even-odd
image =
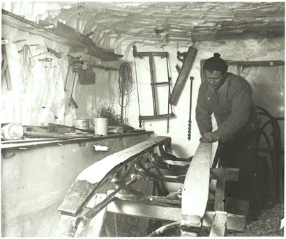
[[[89,45],[81,43],[77,39],[59,36],[59,34],[55,33],[52,29],[46,29],[43,26],[39,26],[34,22],[26,20],[23,17],[10,13],[4,9],[2,9],[2,24],[7,24],[8,26],[20,29],[21,31],[28,31],[29,33],[42,36],[43,38],[56,41],[57,43],[68,45],[75,52],[84,52],[91,56],[95,56],[102,61],[117,61],[119,58],[123,57],[122,55],[114,54],[113,50],[96,47],[95,44],[93,44],[93,49],[91,49]],[[83,34],[78,32],[75,32],[75,37],[76,36],[84,37]]]

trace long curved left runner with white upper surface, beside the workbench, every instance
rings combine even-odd
[[[67,215],[77,215],[100,183],[103,183],[114,171],[120,169],[123,163],[130,162],[151,148],[168,141],[170,143],[170,137],[154,137],[91,164],[77,176],[58,210]]]

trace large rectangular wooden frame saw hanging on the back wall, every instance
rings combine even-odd
[[[153,116],[141,116],[139,115],[139,127],[141,128],[141,122],[142,120],[148,120],[148,119],[156,119],[156,118],[169,118],[173,117],[174,114],[172,112],[172,107],[171,107],[171,114],[158,114],[157,112],[157,97],[156,97],[156,86],[158,85],[163,85],[167,84],[170,87],[170,77],[168,75],[168,80],[167,82],[156,82],[155,81],[155,72],[154,72],[154,61],[153,57],[154,56],[160,56],[161,58],[168,58],[168,52],[137,52],[136,46],[133,45],[133,57],[135,61],[135,57],[140,57],[142,58],[143,56],[148,56],[149,57],[149,67],[150,67],[150,77],[151,77],[151,90],[152,90],[152,100],[153,100]],[[167,60],[168,62],[168,60]],[[167,70],[168,70],[168,64],[167,64]],[[136,73],[136,82],[137,82],[137,70],[136,70],[136,61],[135,61],[135,73]],[[169,70],[168,70],[169,73]],[[140,103],[139,103],[139,94],[138,94],[138,87],[137,87],[137,97],[138,97],[138,107],[140,108]],[[168,100],[168,111],[170,107],[170,99]],[[139,113],[140,114],[140,113]]]

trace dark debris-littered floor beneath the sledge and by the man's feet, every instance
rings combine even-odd
[[[262,210],[258,219],[253,222],[248,222],[244,233],[227,232],[226,236],[284,236],[284,229],[280,229],[281,218],[284,213],[283,204],[275,204]],[[109,215],[110,217],[111,215]],[[116,215],[117,221],[117,236],[119,237],[146,237],[151,231],[163,225],[163,222],[152,221],[151,229],[143,230],[142,226],[138,224],[135,217]],[[169,223],[169,222],[168,222]],[[112,230],[113,231],[113,230]],[[208,229],[202,229],[200,236],[209,236]],[[166,231],[164,235],[160,236],[180,236],[179,228]],[[109,236],[103,229],[101,236]],[[112,235],[110,235],[112,236]],[[115,236],[115,235],[114,235]]]

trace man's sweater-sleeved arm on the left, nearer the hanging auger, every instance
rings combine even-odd
[[[201,84],[199,89],[195,113],[195,119],[201,135],[206,132],[211,132],[213,130],[211,125],[211,114],[213,111],[211,111],[206,104],[206,88],[203,86],[203,84]]]

